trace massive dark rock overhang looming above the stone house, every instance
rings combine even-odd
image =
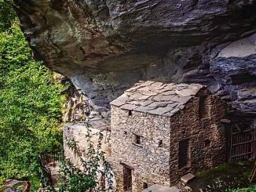
[[[14,2],[35,56],[70,78],[100,112],[148,79],[211,85],[236,110],[256,112],[254,0]],[[247,54],[226,50],[249,36]]]

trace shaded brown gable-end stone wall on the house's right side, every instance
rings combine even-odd
[[[207,90],[200,91],[197,96],[209,94]],[[181,176],[188,172],[196,173],[205,168],[226,161],[226,134],[221,124],[225,117],[225,103],[216,96],[207,96],[209,118],[199,118],[199,97],[187,103],[180,113],[170,118],[170,183],[177,183]],[[189,139],[190,166],[178,168],[178,142]],[[205,141],[210,140],[210,146],[205,147]]]

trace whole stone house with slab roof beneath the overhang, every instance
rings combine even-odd
[[[226,161],[225,103],[198,84],[139,82],[112,101],[117,191],[169,187]]]

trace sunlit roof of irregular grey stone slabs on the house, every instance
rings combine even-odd
[[[141,81],[113,100],[111,105],[125,110],[172,116],[183,109],[185,103],[203,87],[199,84]]]

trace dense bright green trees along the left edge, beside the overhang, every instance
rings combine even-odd
[[[9,1],[0,0],[0,183],[35,179],[39,153],[62,149],[63,89],[33,60]]]

